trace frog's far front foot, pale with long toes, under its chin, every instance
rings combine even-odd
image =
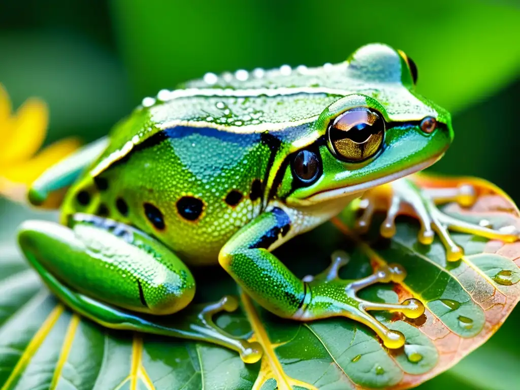
[[[363,210],[356,227],[366,231],[376,211],[387,212],[381,225],[381,235],[391,238],[395,235],[395,219],[398,215],[409,215],[419,219],[421,229],[418,240],[422,244],[431,244],[435,233],[446,248],[448,261],[457,261],[463,251],[452,240],[449,231],[470,233],[489,239],[514,242],[520,239],[520,231],[516,229],[493,229],[488,224],[476,225],[454,218],[437,207],[437,204],[457,202],[463,207],[471,206],[477,198],[476,189],[469,184],[453,188],[418,188],[408,179],[396,180],[393,183],[368,191],[361,199]]]

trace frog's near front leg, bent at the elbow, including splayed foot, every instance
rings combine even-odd
[[[297,278],[270,253],[280,245],[291,229],[287,213],[275,207],[239,230],[220,251],[219,262],[240,286],[265,309],[283,318],[309,321],[319,318],[348,317],[373,329],[388,348],[405,343],[402,333],[386,328],[367,310],[399,311],[410,318],[424,313],[417,300],[403,304],[380,304],[364,301],[356,293],[378,282],[399,282],[405,272],[397,265],[380,268],[359,280],[341,280],[337,270],[344,256],[333,256],[328,271],[316,278]]]

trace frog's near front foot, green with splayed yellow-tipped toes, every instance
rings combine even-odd
[[[368,311],[387,310],[401,313],[408,318],[418,318],[424,313],[424,305],[414,298],[401,304],[370,302],[359,298],[357,292],[375,283],[399,283],[406,277],[405,270],[400,265],[390,264],[380,267],[366,278],[342,280],[337,273],[347,263],[348,255],[343,251],[335,251],[331,260],[332,264],[326,271],[312,280],[310,277],[304,278],[310,290],[306,300],[308,303],[294,317],[301,320],[337,316],[352,318],[375,331],[387,348],[402,347],[405,336],[401,332],[388,329]]]

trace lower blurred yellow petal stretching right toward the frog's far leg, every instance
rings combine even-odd
[[[62,139],[30,160],[0,166],[0,193],[12,200],[24,201],[27,187],[49,166],[72,153],[80,145],[76,138]]]

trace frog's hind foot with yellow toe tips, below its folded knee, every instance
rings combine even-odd
[[[213,316],[221,311],[235,311],[238,309],[238,300],[231,295],[225,295],[220,301],[210,304],[194,305],[200,307],[198,320],[190,325],[190,328],[202,335],[207,335],[208,340],[225,347],[235,349],[245,363],[255,363],[262,357],[262,347],[257,342],[249,342],[241,337],[233,336],[218,327],[213,321]]]

